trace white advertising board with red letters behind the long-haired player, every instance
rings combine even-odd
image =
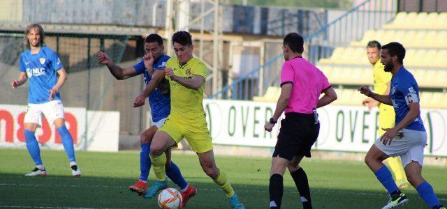
[[[0,104],[0,147],[26,147],[23,123],[26,111],[27,106],[24,105]],[[65,107],[64,111],[66,126],[76,150],[118,150],[119,112],[86,111],[85,108],[76,107]],[[36,138],[41,148],[64,149],[56,128],[50,126],[45,118],[41,128],[36,130]]]

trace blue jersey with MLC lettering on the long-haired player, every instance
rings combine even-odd
[[[29,79],[29,103],[50,102],[48,91],[56,85],[57,70],[61,68],[59,56],[49,47],[41,47],[37,54],[31,54],[31,50],[20,54],[20,72],[26,72]],[[53,100],[61,100],[59,91]]]

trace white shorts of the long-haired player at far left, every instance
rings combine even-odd
[[[24,123],[37,123],[42,125],[42,114],[47,118],[50,125],[54,124],[57,118],[65,119],[64,105],[61,100],[53,100],[42,104],[28,104],[27,114]]]

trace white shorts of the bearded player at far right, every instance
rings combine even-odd
[[[402,137],[397,136],[399,133],[402,133]],[[393,138],[391,144],[383,145],[380,137],[374,144],[390,157],[400,156],[404,167],[412,161],[416,161],[422,166],[424,148],[427,146],[427,132],[402,129],[399,133]]]

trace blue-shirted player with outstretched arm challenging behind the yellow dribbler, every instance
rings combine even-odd
[[[159,128],[163,125],[170,114],[170,94],[169,84],[165,77],[166,62],[170,58],[163,54],[164,46],[163,39],[157,34],[150,34],[145,40],[146,54],[142,61],[129,68],[121,68],[112,62],[108,54],[98,52],[98,61],[101,64],[107,65],[108,69],[116,79],[127,79],[136,75],[143,74],[145,76],[146,88],[140,95],[135,98],[133,107],[140,107],[145,104],[146,98],[149,98],[149,105],[152,112],[153,125],[141,134],[141,153],[140,153],[140,178],[137,183],[131,185],[129,189],[139,194],[145,194],[145,198],[152,198],[164,187],[159,184],[154,184],[146,190],[147,177],[151,167],[151,160],[149,157],[149,150],[152,138]],[[166,152],[170,155],[170,150]],[[174,162],[168,160],[166,162],[166,174],[182,189],[182,206],[191,196],[196,195],[196,188],[188,185],[184,180],[182,173]]]

